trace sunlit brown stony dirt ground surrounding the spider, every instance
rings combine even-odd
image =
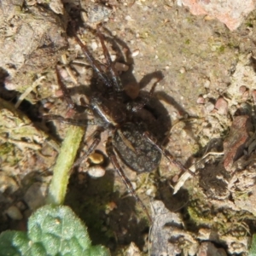
[[[247,255],[256,220],[256,12],[230,32],[172,0],[65,1],[65,10],[53,3],[51,9],[36,1],[0,6],[0,230],[25,229],[26,218],[44,204],[68,125],[46,123],[42,116],[72,114],[61,99],[56,62],[74,101],[86,102],[84,95],[94,90],[90,65],[71,37],[73,20],[79,38],[104,63],[95,33],[101,24],[129,96],[158,81],[150,103],[153,132],[195,172],[184,173],[164,157],[155,172],[141,175],[123,164],[153,216],[150,228],[109,164],[103,134],[97,152],[106,174],[90,177],[82,172],[90,162],[83,163],[71,177],[66,201],[88,225],[93,243],[113,255],[203,255],[206,247],[213,252],[207,255]],[[88,127],[84,139],[92,131]],[[83,144],[79,154],[85,150]],[[21,218],[10,217],[14,206]]]

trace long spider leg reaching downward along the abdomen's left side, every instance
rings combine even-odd
[[[148,213],[148,209],[143,204],[143,201],[138,197],[134,189],[132,188],[131,181],[129,178],[125,175],[124,170],[119,165],[119,161],[117,160],[116,155],[113,152],[113,143],[112,143],[112,137],[108,137],[108,142],[106,144],[106,151],[109,157],[109,160],[111,160],[115,170],[119,173],[119,176],[122,178],[123,183],[125,183],[126,188],[128,189],[128,192],[131,193],[131,195],[135,198],[135,200],[140,204],[140,206],[143,208],[143,211],[146,212],[149,221],[152,223],[152,218]]]

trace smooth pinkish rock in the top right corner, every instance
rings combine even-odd
[[[255,9],[255,0],[182,0],[193,15],[208,15],[223,22],[233,31]]]

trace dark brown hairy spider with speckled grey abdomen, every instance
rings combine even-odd
[[[96,125],[96,130],[89,137],[92,143],[90,143],[86,153],[79,160],[75,161],[73,167],[79,166],[83,160],[94,152],[97,145],[101,142],[102,132],[108,131],[109,135],[106,143],[108,158],[116,172],[119,173],[128,191],[146,212],[149,221],[152,222],[147,208],[133,189],[131,181],[125,175],[123,168],[119,164],[119,160],[122,160],[125,166],[131,168],[134,172],[152,172],[160,165],[161,156],[164,155],[167,160],[175,164],[183,172],[189,172],[171,153],[161,146],[152,132],[148,131],[147,124],[137,116],[137,112],[144,108],[153,96],[155,86],[159,81],[153,84],[148,96],[137,96],[133,100],[131,98],[129,99],[125,95],[123,84],[113,67],[113,61],[110,58],[102,33],[97,31],[97,36],[100,38],[103,54],[107,62],[107,71],[91,55],[90,50],[82,43],[78,35],[74,33],[73,36],[80,45],[98,79],[102,81],[104,88],[101,88],[101,91],[90,96],[89,104],[79,106],[73,102],[66,85],[62,82],[61,74],[58,68],[56,68],[58,84],[61,87],[68,108],[72,108],[78,112],[86,110],[94,118],[69,119],[63,118],[61,115],[49,114],[45,115],[44,119],[58,120],[69,125]],[[93,85],[97,86],[96,84]]]

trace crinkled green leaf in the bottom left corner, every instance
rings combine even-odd
[[[109,256],[108,249],[92,247],[87,229],[69,207],[44,206],[28,221],[28,232],[0,235],[0,256]]]

